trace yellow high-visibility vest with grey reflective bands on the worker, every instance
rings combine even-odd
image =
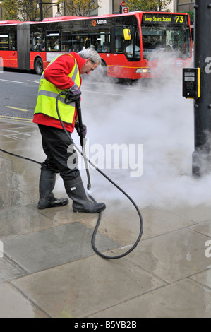
[[[68,55],[73,57],[71,54]],[[56,59],[58,59],[58,57]],[[49,64],[49,66],[56,59],[54,59]],[[73,59],[75,58],[73,57]],[[71,79],[78,85],[78,87],[80,86],[80,73],[76,59],[73,70],[68,74],[68,77],[71,77]],[[50,83],[44,78],[44,74],[42,73],[38,90],[37,105],[35,107],[35,114],[42,113],[59,120],[58,114],[56,112],[56,97],[59,95],[59,93],[61,93],[61,91],[64,90],[56,88],[54,84]],[[61,95],[58,100],[59,114],[62,121],[68,124],[72,124],[75,114],[75,102],[66,104],[64,100],[65,96]]]

